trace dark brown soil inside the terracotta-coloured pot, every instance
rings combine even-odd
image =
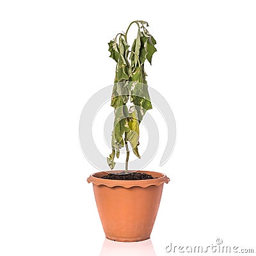
[[[104,175],[101,179],[109,179],[109,180],[149,180],[154,179],[152,175],[147,173],[140,172],[120,172],[120,173],[108,173],[108,175]]]

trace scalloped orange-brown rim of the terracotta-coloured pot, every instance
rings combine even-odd
[[[152,175],[152,177],[156,179],[148,179],[148,180],[110,180],[110,179],[101,179],[100,177],[107,175],[108,173],[116,173],[123,171],[113,171],[113,172],[96,172],[92,173],[90,177],[88,177],[88,183],[93,183],[96,186],[107,186],[109,188],[113,188],[116,186],[131,188],[131,187],[141,187],[147,188],[148,186],[159,186],[163,183],[168,183],[170,179],[166,177],[164,173],[159,172],[150,172],[150,171],[135,171],[135,172],[143,172]]]

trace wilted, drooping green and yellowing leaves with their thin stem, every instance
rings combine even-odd
[[[138,26],[138,33],[129,51],[127,32],[134,23]],[[115,84],[111,95],[111,106],[115,108],[112,153],[107,157],[111,170],[115,167],[115,156],[117,158],[120,156],[120,148],[124,147],[127,141],[134,154],[140,158],[138,152],[140,122],[148,109],[152,109],[144,63],[147,60],[151,65],[152,56],[156,52],[156,40],[145,26],[148,26],[148,23],[143,20],[133,21],[125,33],[118,33],[115,39],[108,43],[109,57],[116,61]],[[118,41],[117,38],[119,38]],[[128,109],[129,100],[133,106]],[[128,159],[129,152],[127,152],[127,162]],[[125,164],[125,170],[127,170],[127,164]]]

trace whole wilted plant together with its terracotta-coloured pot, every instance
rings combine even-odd
[[[132,24],[138,26],[138,33],[130,49],[127,33]],[[150,237],[163,184],[169,182],[163,173],[128,170],[129,147],[140,158],[140,123],[148,109],[152,109],[144,65],[146,61],[152,63],[156,40],[147,26],[145,21],[133,21],[125,33],[118,33],[109,42],[110,57],[116,61],[111,95],[111,106],[115,109],[112,152],[107,157],[111,171],[93,173],[88,178],[93,183],[106,237],[115,241],[143,241]],[[113,171],[115,157],[120,156],[122,147],[126,149],[125,171]]]

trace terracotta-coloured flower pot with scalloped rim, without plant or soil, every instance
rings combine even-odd
[[[121,172],[121,171],[115,171]],[[106,237],[120,242],[143,241],[150,237],[159,208],[163,184],[169,178],[163,173],[151,174],[156,179],[100,179],[107,172],[90,175],[93,191]]]

